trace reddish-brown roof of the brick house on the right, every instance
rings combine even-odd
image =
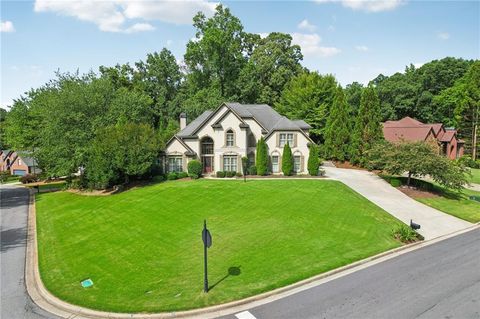
[[[456,130],[445,130],[441,123],[425,124],[408,116],[398,121],[383,123],[383,135],[391,142],[425,141],[430,134],[440,142],[450,142],[456,132]]]

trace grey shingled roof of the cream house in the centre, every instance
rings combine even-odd
[[[205,125],[223,105],[229,108],[241,121],[244,119],[254,119],[265,130],[265,134],[270,134],[278,130],[303,131],[311,128],[311,126],[303,120],[292,121],[278,114],[277,111],[267,104],[240,104],[229,102],[223,103],[215,111],[205,111],[181,130],[177,136],[180,138],[195,137],[195,133]],[[244,122],[243,124],[246,125]],[[219,127],[219,123],[213,123],[212,125]]]

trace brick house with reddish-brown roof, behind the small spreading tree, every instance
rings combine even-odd
[[[455,129],[445,128],[441,123],[425,124],[408,116],[383,123],[383,136],[393,143],[401,140],[434,143],[450,159],[461,157],[464,151],[464,141],[458,138]]]

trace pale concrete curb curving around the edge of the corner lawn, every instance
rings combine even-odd
[[[29,196],[29,209],[28,209],[28,234],[27,234],[27,249],[25,258],[25,284],[27,286],[27,292],[40,308],[52,313],[61,318],[69,319],[93,319],[93,318],[145,318],[145,319],[163,319],[163,318],[215,318],[218,316],[224,316],[234,314],[252,307],[256,307],[262,304],[266,304],[275,300],[285,298],[289,295],[298,293],[300,291],[310,289],[312,287],[321,285],[330,280],[348,275],[355,271],[370,267],[374,264],[383,262],[385,260],[394,258],[396,256],[411,252],[413,250],[435,244],[439,241],[445,240],[450,237],[468,232],[473,229],[480,228],[480,223],[477,223],[466,229],[444,235],[428,241],[417,242],[395,248],[375,256],[365,258],[363,260],[354,262],[352,264],[333,269],[323,274],[299,281],[289,286],[277,288],[272,291],[268,291],[256,296],[248,297],[245,299],[232,301],[216,306],[210,306],[201,309],[178,311],[178,312],[163,312],[152,314],[140,314],[140,313],[113,313],[104,312],[93,309],[84,308],[81,306],[72,305],[67,303],[51,294],[43,285],[40,277],[39,265],[38,265],[38,250],[37,250],[37,232],[36,232],[36,211],[35,211],[35,193],[30,190]]]

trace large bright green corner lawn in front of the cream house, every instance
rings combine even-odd
[[[203,289],[201,230],[213,237]],[[336,181],[173,181],[37,197],[40,272],[68,302],[118,312],[255,295],[392,249],[400,222]],[[231,267],[238,272],[228,275]],[[91,278],[92,288],[80,281]]]

